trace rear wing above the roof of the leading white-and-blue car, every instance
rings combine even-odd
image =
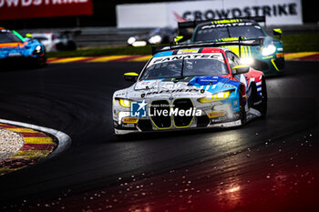
[[[242,45],[262,45],[262,39],[242,39],[242,36],[239,37],[238,40],[233,41],[221,41],[221,42],[202,42],[202,43],[194,43],[194,44],[183,44],[183,45],[169,45],[169,46],[152,46],[152,55],[163,51],[177,50],[183,48],[193,48],[193,47],[221,47],[225,45],[238,45],[239,47],[239,55],[242,55]]]

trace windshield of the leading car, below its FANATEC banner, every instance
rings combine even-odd
[[[183,65],[182,65],[183,61]],[[226,65],[217,59],[184,59],[148,66],[141,80],[158,78],[180,78],[186,76],[227,75]]]

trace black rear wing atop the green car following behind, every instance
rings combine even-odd
[[[241,19],[253,20],[255,22],[263,22],[264,25],[266,25],[266,16],[264,15],[236,17],[236,18],[223,18],[223,19],[207,19],[207,20],[201,20],[201,21],[178,22],[178,31],[179,31],[178,34],[183,36],[181,41],[185,41],[187,39],[190,39],[192,33],[194,32],[195,27],[202,23],[216,22],[216,24],[218,24],[218,22],[220,21],[238,21]]]

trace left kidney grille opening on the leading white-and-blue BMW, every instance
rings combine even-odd
[[[153,101],[150,105],[150,111],[154,115],[154,111],[163,111],[168,110],[170,112],[170,103],[167,100],[156,100]],[[150,116],[153,124],[158,128],[170,128],[171,119],[170,116],[163,116],[162,113],[160,116],[157,114],[155,116]]]

